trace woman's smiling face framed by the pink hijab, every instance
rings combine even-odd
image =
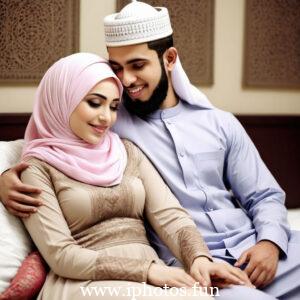
[[[117,119],[120,93],[113,78],[99,82],[81,100],[70,117],[73,133],[89,144],[98,144]]]

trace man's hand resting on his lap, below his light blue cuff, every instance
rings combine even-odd
[[[264,287],[275,277],[279,260],[279,248],[270,241],[263,240],[244,251],[235,263],[240,267],[247,263],[245,272],[256,287]]]

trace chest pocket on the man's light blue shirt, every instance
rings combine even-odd
[[[222,187],[225,151],[223,149],[193,155],[194,176],[200,187]]]

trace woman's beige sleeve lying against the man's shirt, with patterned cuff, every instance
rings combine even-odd
[[[135,147],[139,156],[139,176],[146,192],[145,216],[161,240],[187,270],[194,259],[212,257],[196,224],[180,205],[148,158]]]

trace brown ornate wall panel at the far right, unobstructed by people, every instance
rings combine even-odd
[[[244,84],[300,88],[300,1],[247,0]]]

